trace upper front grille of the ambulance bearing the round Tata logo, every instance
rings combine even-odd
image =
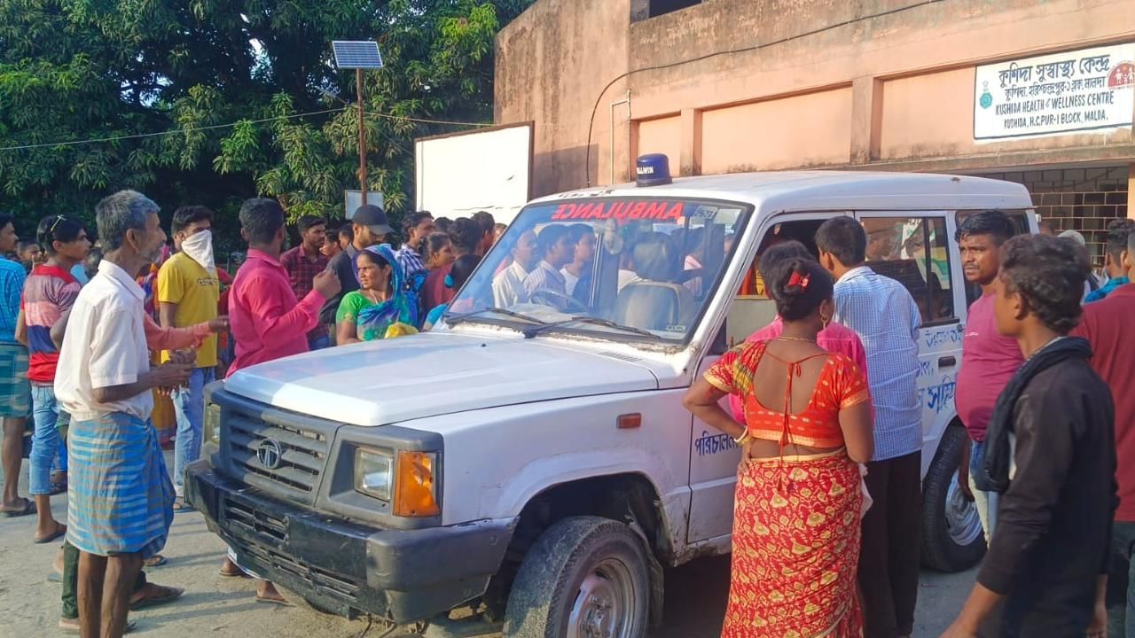
[[[313,502],[330,451],[328,431],[269,422],[233,410],[225,418],[225,435],[235,476],[251,485],[283,488],[301,502]]]

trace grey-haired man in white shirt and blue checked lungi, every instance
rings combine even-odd
[[[56,395],[72,415],[67,540],[79,551],[78,615],[84,636],[118,638],[142,561],[166,544],[174,487],[148,419],[153,388],[185,384],[178,354],[150,368],[145,294],[134,275],[166,241],[158,205],[120,191],[95,208],[103,259],[68,318]]]

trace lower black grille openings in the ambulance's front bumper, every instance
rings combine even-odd
[[[258,562],[306,582],[320,595],[333,597],[348,605],[358,604],[362,582],[355,582],[342,574],[301,563],[278,551],[279,547],[284,546],[286,536],[283,520],[228,498],[224,500],[221,512],[230,529],[246,532],[241,548],[251,554]]]

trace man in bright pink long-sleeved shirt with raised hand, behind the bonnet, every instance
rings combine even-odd
[[[295,299],[287,269],[280,265],[284,247],[284,209],[276,200],[252,199],[241,205],[241,236],[249,242],[249,259],[233,280],[228,312],[236,341],[236,359],[228,377],[257,363],[308,352],[308,333],[319,325],[319,310],[338,294],[339,278],[322,270],[312,278],[312,289]],[[221,576],[255,574],[236,564],[232,551]],[[257,602],[289,605],[276,587],[261,580]]]

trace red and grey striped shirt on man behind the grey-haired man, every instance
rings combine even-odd
[[[59,349],[51,341],[51,327],[70,310],[78,296],[79,283],[58,266],[40,266],[24,284],[20,309],[27,324],[27,378],[40,384],[56,380]]]

